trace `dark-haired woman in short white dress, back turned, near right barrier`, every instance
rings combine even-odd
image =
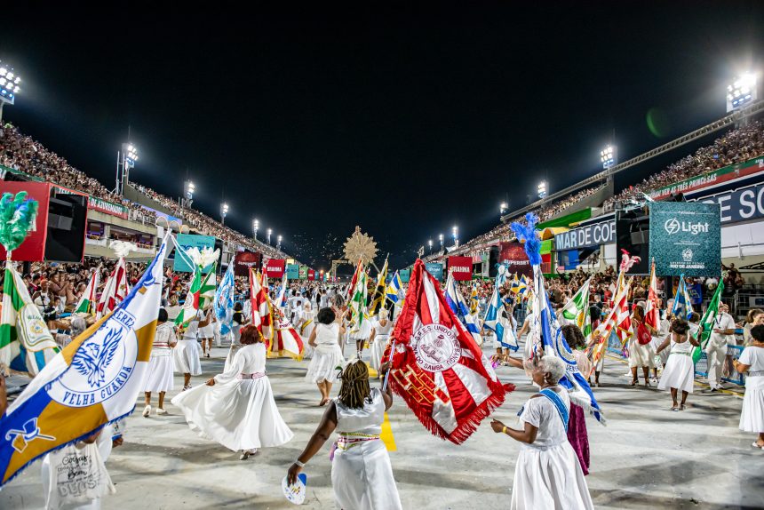
[[[661,373],[658,389],[671,391],[671,410],[685,410],[687,395],[692,393],[695,382],[695,363],[692,363],[692,350],[699,344],[692,335],[688,334],[689,324],[681,319],[674,319],[671,325],[671,335],[658,347],[658,354],[671,346],[671,353]],[[681,402],[676,402],[677,393],[681,390]]]

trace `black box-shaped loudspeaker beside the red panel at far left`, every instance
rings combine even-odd
[[[51,196],[45,239],[46,260],[83,261],[87,211],[88,197],[85,195],[56,193]]]

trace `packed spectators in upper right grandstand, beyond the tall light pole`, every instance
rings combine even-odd
[[[712,145],[701,147],[693,155],[681,158],[665,170],[652,174],[641,183],[630,186],[606,202],[606,208],[616,201],[644,200],[644,195],[685,179],[703,175],[735,163],[742,163],[764,154],[764,124],[761,121],[728,131]]]

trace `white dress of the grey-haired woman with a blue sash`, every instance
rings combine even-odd
[[[558,393],[570,410],[567,391]],[[521,443],[514,468],[513,510],[593,509],[584,472],[554,404],[545,396],[530,398],[521,423],[538,427],[533,444]]]

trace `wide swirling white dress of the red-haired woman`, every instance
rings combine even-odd
[[[172,403],[183,411],[191,430],[228,450],[280,446],[293,434],[276,407],[265,372],[266,346],[242,346],[230,368],[215,376],[215,386],[195,386]]]

